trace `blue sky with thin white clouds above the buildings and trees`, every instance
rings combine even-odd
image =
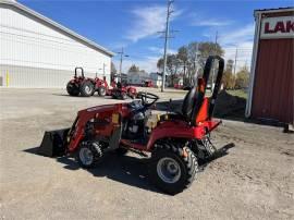
[[[132,63],[148,72],[157,71],[163,54],[167,1],[150,0],[20,0],[19,2],[107,47],[113,52],[124,47],[130,56],[123,70]],[[250,65],[254,37],[254,10],[293,7],[285,0],[175,0],[171,28],[179,30],[170,40],[170,52],[191,41],[215,41],[233,59],[238,48],[237,66]],[[119,56],[113,58],[118,69]]]

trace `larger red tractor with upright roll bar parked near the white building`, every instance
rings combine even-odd
[[[81,75],[77,74],[78,70],[81,71]],[[106,78],[87,78],[84,75],[83,68],[75,68],[74,78],[66,85],[66,90],[70,96],[81,95],[83,97],[88,97],[93,96],[95,91],[97,91],[99,96],[105,96],[107,94],[107,89],[108,83]]]

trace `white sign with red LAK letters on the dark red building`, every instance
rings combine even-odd
[[[260,38],[293,38],[294,17],[268,17],[261,22]]]

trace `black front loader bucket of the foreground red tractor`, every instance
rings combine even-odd
[[[38,154],[46,157],[63,156],[69,131],[70,129],[45,132]]]

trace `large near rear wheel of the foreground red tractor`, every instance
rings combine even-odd
[[[196,179],[198,163],[188,147],[180,143],[156,145],[149,164],[149,179],[161,191],[174,195],[189,187]]]

